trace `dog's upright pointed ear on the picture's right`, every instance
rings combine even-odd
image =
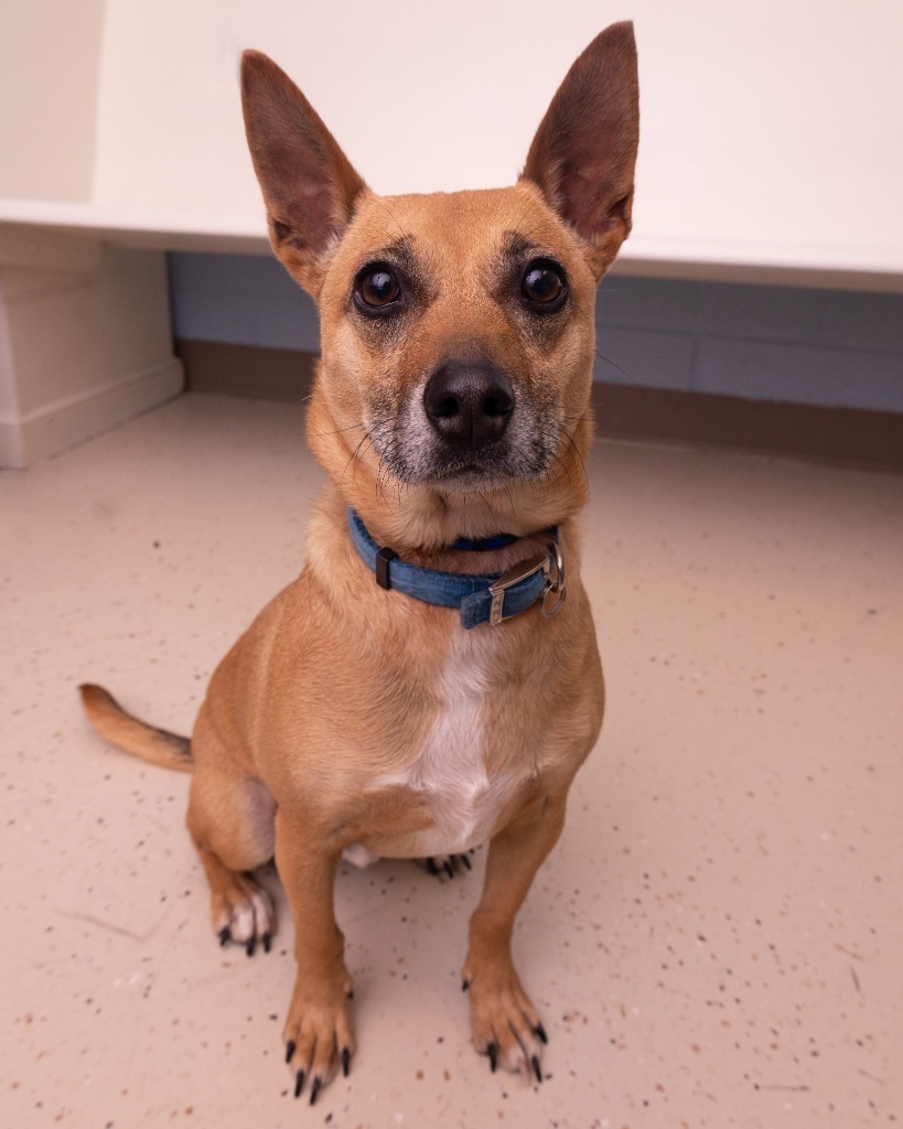
[[[589,243],[598,278],[630,234],[639,124],[633,25],[613,24],[568,71],[521,173]]]

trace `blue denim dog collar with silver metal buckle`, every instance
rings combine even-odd
[[[377,545],[350,506],[347,516],[354,549],[382,588],[394,588],[427,604],[457,607],[464,628],[501,623],[525,612],[541,597],[545,614],[554,615],[564,601],[558,527],[547,531],[549,545],[544,553],[534,553],[501,575],[474,576],[407,564],[394,550]]]

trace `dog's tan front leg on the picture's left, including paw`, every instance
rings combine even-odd
[[[300,813],[277,813],[275,863],[295,921],[298,966],[283,1030],[286,1061],[296,1097],[309,1082],[312,1105],[340,1064],[348,1074],[354,1052],[351,977],[333,907],[341,846],[318,830]]]

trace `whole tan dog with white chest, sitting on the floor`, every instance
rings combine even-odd
[[[493,1070],[541,1080],[510,938],[602,724],[576,518],[596,283],[630,230],[632,27],[580,55],[510,189],[380,199],[266,56],[245,54],[243,93],[273,247],[319,306],[307,427],[331,482],[305,570],[213,674],[191,743],[97,686],[85,706],[111,741],[193,771],[187,824],[223,944],[269,948],[249,872],[275,857],[296,1095],[307,1079],[314,1101],[354,1050],[343,851],[450,867],[484,842],[473,1040]]]

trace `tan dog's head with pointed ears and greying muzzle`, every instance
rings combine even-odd
[[[630,231],[631,25],[573,64],[510,189],[377,196],[265,55],[245,53],[243,95],[273,248],[319,307],[308,435],[345,498],[420,543],[426,514],[427,540],[569,516],[595,289]]]

